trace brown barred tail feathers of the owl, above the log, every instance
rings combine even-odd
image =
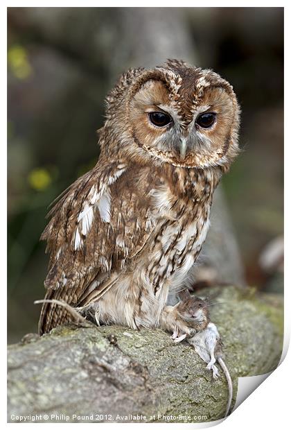
[[[49,332],[53,327],[56,325],[60,325],[64,322],[73,322],[73,324],[76,324],[81,327],[91,327],[91,322],[86,320],[83,316],[80,315],[78,311],[76,311],[75,308],[71,307],[67,302],[60,299],[44,299],[44,300],[35,300],[34,304],[43,303],[42,306],[42,313],[39,318],[39,334],[42,335],[46,332]],[[53,312],[53,307],[50,307],[50,309],[47,309],[47,305],[55,305],[54,308],[62,307],[66,313],[64,314],[62,311],[55,313]],[[57,316],[57,318],[46,318],[47,316],[50,317],[51,315]]]

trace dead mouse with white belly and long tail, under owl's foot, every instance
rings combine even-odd
[[[209,306],[211,303],[209,303],[209,300],[191,296],[188,290],[183,290],[179,293],[179,298],[181,302],[176,305],[177,315],[179,319],[184,320],[195,331],[192,337],[187,338],[188,343],[193,345],[195,352],[207,363],[206,368],[212,370],[214,379],[219,376],[218,368],[215,366],[216,361],[220,364],[227,379],[229,387],[229,399],[225,412],[225,417],[227,417],[233,396],[233,386],[229,370],[222,359],[220,334],[215,324],[210,322]],[[177,337],[176,332],[177,330],[174,331],[172,336],[175,342],[182,341],[186,337],[186,334]]]

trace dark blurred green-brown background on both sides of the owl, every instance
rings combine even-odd
[[[170,13],[174,22],[175,14],[182,17],[196,65],[218,71],[238,94],[243,153],[223,186],[247,282],[280,291],[283,8]],[[47,207],[96,163],[104,97],[118,73],[138,66],[125,43],[126,17],[126,8],[122,14],[118,8],[8,8],[9,342],[37,330],[33,300],[44,295],[48,257],[39,236]],[[271,257],[273,251],[268,268],[261,263],[266,246]]]

